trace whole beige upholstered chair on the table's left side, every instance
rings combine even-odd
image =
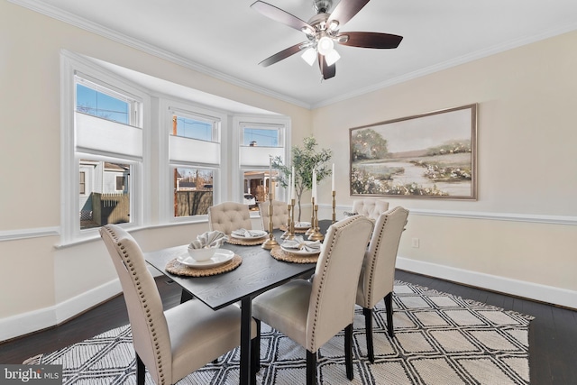
[[[133,332],[137,384],[144,384],[146,369],[156,384],[174,384],[240,344],[238,307],[214,311],[192,300],[163,311],[156,282],[133,236],[117,225],[101,227],[100,236],[123,288]],[[254,322],[252,333],[254,346],[258,342]]]

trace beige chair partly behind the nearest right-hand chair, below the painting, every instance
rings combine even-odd
[[[372,309],[384,298],[387,310],[387,329],[394,335],[393,329],[393,285],[395,282],[395,263],[398,243],[407,225],[408,210],[395,207],[379,215],[371,235],[371,243],[362,262],[361,276],[357,288],[356,303],[362,307],[367,335],[369,361],[374,362],[372,344]]]

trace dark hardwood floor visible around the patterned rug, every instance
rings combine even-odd
[[[535,316],[529,326],[531,383],[577,384],[577,312],[402,270],[397,270],[396,278]],[[166,277],[158,278],[157,283],[166,308],[179,303],[180,289],[177,284],[170,283]],[[0,344],[0,363],[22,363],[34,355],[53,352],[127,323],[124,298],[119,296],[63,325]]]

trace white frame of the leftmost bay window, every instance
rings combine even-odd
[[[136,118],[142,130],[142,159],[131,159],[121,155],[114,156],[105,151],[87,151],[76,148],[76,81],[80,75],[106,88],[129,95],[142,107]],[[60,245],[78,243],[98,236],[98,228],[80,230],[78,218],[79,205],[79,160],[106,160],[131,164],[131,223],[126,228],[140,227],[150,218],[150,96],[137,85],[97,66],[93,61],[70,52],[60,51]]]

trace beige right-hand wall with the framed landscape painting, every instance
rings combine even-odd
[[[313,112],[319,142],[345,153],[349,128],[478,103],[479,199],[390,197],[413,211],[400,266],[485,287],[498,280],[493,289],[529,297],[544,287],[577,294],[575,46],[577,32],[567,33]],[[348,161],[336,157],[336,169]],[[336,190],[350,206],[347,172]],[[320,196],[328,205],[328,191]]]

